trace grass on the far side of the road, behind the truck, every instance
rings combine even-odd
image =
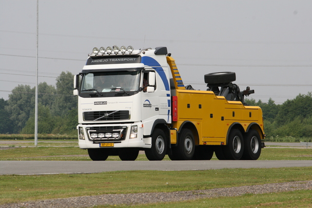
[[[88,152],[75,147],[76,143],[65,144],[68,144],[68,147],[55,147],[55,143],[44,142],[44,145],[53,147],[38,146],[0,150],[0,160],[90,160]],[[107,160],[120,159],[118,156],[109,156]],[[137,160],[147,160],[147,158],[145,154],[139,154]],[[166,155],[164,160],[170,159]],[[217,160],[215,155],[212,160]],[[264,148],[259,160],[312,160],[312,148]]]

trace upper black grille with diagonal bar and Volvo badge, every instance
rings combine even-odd
[[[92,111],[84,112],[85,121],[112,121],[129,119],[129,111]]]

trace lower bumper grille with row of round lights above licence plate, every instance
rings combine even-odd
[[[127,134],[126,126],[99,126],[99,127],[90,127],[87,128],[88,136],[90,141],[98,142],[98,141],[120,141],[124,140]],[[120,133],[120,136],[117,138],[91,138],[91,133]]]

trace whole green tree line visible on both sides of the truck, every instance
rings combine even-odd
[[[73,95],[73,77],[62,72],[56,87],[46,82],[38,85],[38,133],[76,134],[78,98]],[[312,137],[312,93],[297,95],[276,105],[246,99],[263,112],[264,128],[270,137]],[[33,134],[35,129],[35,87],[19,85],[8,100],[0,99],[0,133]]]

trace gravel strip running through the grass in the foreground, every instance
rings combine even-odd
[[[264,185],[218,188],[207,190],[191,190],[156,193],[103,194],[98,196],[80,196],[65,199],[48,199],[35,202],[4,204],[0,208],[90,208],[96,205],[147,204],[214,198],[220,196],[240,196],[246,193],[262,194],[300,189],[312,189],[312,181],[294,181]]]

